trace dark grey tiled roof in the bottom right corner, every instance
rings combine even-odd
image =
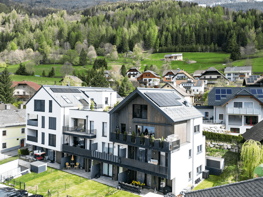
[[[185,193],[185,197],[262,197],[263,177]]]

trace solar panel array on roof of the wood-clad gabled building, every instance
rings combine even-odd
[[[182,106],[182,104],[176,99],[180,99],[174,93],[152,93],[145,92],[146,96],[148,96],[152,101],[154,101],[158,106]]]

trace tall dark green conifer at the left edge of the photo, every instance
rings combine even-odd
[[[7,67],[2,71],[0,75],[0,101],[3,103],[14,103],[15,98],[13,96],[15,87],[11,88],[13,80],[9,76],[9,70]]]

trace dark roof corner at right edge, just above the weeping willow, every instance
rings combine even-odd
[[[254,125],[251,129],[248,129],[244,134],[242,134],[244,140],[253,139],[255,141],[263,141],[263,121],[260,121]]]

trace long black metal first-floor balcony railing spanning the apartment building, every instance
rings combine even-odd
[[[96,152],[87,149],[82,149],[78,147],[69,146],[67,144],[62,144],[62,152],[77,155],[80,157],[93,159],[96,161],[101,161],[104,163],[109,163],[119,167],[125,167],[132,170],[137,170],[140,172],[145,172],[148,174],[156,174],[156,176],[167,178],[168,177],[168,167],[159,166],[155,164],[150,164],[146,162],[140,162],[134,159],[128,159],[125,157],[119,157],[113,154],[108,154],[104,152]]]

